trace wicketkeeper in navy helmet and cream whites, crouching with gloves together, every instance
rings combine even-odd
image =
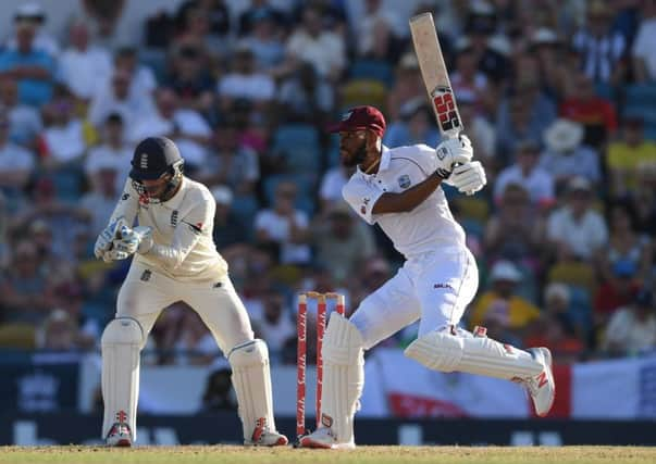
[[[225,353],[248,446],[284,446],[275,429],[267,344],[250,321],[212,240],[215,202],[183,174],[175,143],[150,137],[135,149],[132,171],[96,241],[104,261],[134,255],[119,292],[115,318],[102,334],[102,438],[129,447],[136,439],[139,353],[161,311],[184,301]],[[133,227],[135,218],[138,225]]]

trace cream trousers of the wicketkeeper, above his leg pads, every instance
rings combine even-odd
[[[137,319],[146,340],[162,310],[177,301],[198,313],[224,354],[253,339],[246,308],[227,275],[213,283],[178,283],[133,262],[119,291],[116,317]]]

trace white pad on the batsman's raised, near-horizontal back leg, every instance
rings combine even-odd
[[[433,330],[414,340],[404,354],[433,371],[461,371],[504,379],[525,379],[544,366],[523,350],[487,337],[451,335],[449,329]]]

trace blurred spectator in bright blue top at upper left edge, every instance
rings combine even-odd
[[[21,103],[40,106],[52,98],[55,63],[47,52],[35,48],[35,34],[32,23],[16,25],[16,48],[0,52],[0,77],[16,79]]]

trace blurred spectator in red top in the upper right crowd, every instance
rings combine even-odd
[[[583,142],[599,149],[617,129],[617,111],[612,104],[596,95],[593,80],[583,73],[569,79],[567,98],[560,102],[561,117],[584,127]]]

